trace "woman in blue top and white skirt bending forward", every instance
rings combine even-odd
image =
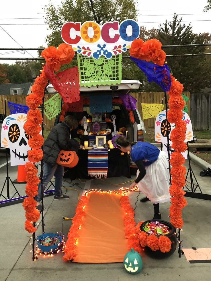
[[[130,143],[123,136],[113,137],[112,143],[122,152],[130,152],[132,161],[138,167],[137,177],[130,188],[137,185],[139,190],[153,203],[153,219],[161,219],[159,203],[170,201],[168,155],[153,144]],[[146,201],[146,199],[142,199],[142,201]]]

